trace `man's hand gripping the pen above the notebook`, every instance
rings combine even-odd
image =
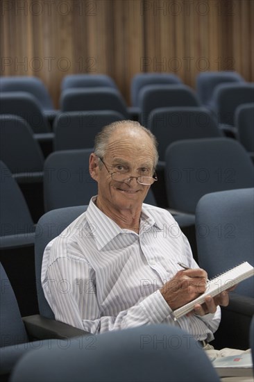
[[[169,307],[175,310],[205,292],[207,280],[208,274],[201,268],[180,270],[160,292]]]

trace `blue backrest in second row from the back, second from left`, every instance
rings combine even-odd
[[[126,103],[113,88],[71,88],[60,97],[62,111],[115,110],[128,118]]]

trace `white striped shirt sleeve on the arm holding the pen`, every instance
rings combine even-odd
[[[77,260],[71,256],[58,258],[49,265],[42,279],[42,287],[58,321],[90,333],[102,333],[158,324],[171,313],[167,302],[157,290],[135,306],[122,310],[115,317],[101,316],[96,286],[91,275],[90,265],[85,261],[79,261],[77,264]]]

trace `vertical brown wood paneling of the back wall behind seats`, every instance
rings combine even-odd
[[[39,76],[56,107],[73,73],[109,74],[127,103],[137,72],[254,81],[253,13],[253,0],[2,0],[1,76]]]

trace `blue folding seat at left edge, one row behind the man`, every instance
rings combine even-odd
[[[27,315],[36,309],[34,272],[28,274],[34,269],[35,224],[22,191],[1,160],[0,174],[0,261],[12,281],[20,310]]]

